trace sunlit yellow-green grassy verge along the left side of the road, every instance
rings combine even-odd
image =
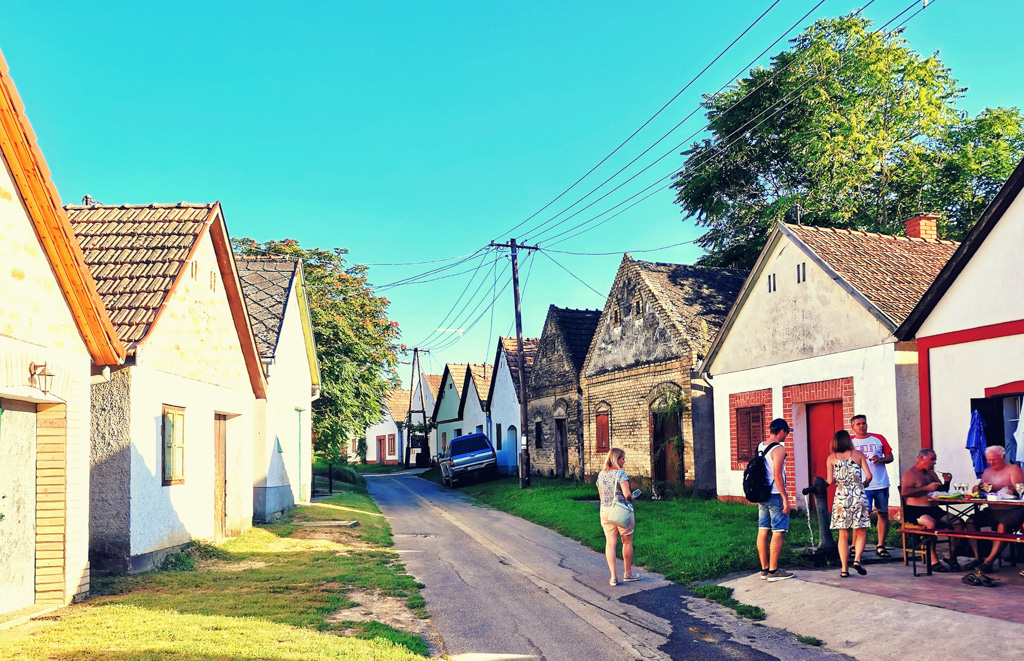
[[[366,490],[336,488],[345,491],[281,523],[195,545],[172,557],[169,570],[94,578],[93,599],[31,624],[32,635],[9,632],[0,641],[4,658],[422,659],[420,636],[337,616],[368,608],[353,601],[368,594],[397,602],[410,619],[426,612]],[[359,526],[315,525],[334,520]]]

